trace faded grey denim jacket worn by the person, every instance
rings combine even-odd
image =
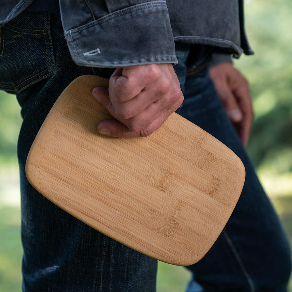
[[[0,0],[0,26],[32,1]],[[213,46],[220,60],[253,53],[244,31],[243,0],[60,0],[59,4],[65,39],[74,62],[81,66],[175,64],[175,41]]]

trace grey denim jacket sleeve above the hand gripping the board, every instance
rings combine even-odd
[[[60,0],[60,11],[78,65],[177,63],[166,1]]]

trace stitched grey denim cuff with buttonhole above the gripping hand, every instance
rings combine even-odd
[[[90,67],[177,63],[165,1],[109,13],[65,31],[74,62]]]

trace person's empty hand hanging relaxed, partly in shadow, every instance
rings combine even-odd
[[[254,117],[248,82],[229,62],[212,67],[210,77],[228,117],[245,146]]]

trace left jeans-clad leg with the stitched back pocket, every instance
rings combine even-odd
[[[74,64],[56,15],[25,12],[4,29],[1,88],[17,95],[23,116],[18,140],[23,291],[155,291],[156,260],[61,210],[25,176],[27,154],[53,103],[70,81],[93,70]]]

